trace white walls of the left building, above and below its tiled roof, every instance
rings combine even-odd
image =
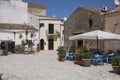
[[[25,23],[30,25],[32,24],[35,28],[38,29],[39,27],[38,16],[28,13],[27,10],[28,10],[27,3],[22,2],[22,0],[0,0],[0,23],[13,23],[13,24]],[[23,36],[22,39],[19,39],[20,34],[22,34]],[[31,39],[30,33],[28,37],[29,37],[28,39]],[[16,45],[20,45],[21,40],[24,40],[24,39],[26,39],[25,31],[22,33],[16,33],[15,35]],[[0,40],[14,41],[14,34],[0,31]],[[38,40],[38,35],[34,37],[33,41],[35,41],[36,43],[37,40]]]

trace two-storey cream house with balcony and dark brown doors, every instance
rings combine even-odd
[[[56,50],[63,46],[62,20],[56,17],[39,16],[39,39],[42,50]]]

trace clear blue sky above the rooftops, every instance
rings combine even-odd
[[[47,7],[47,16],[59,18],[69,17],[79,6],[101,8],[107,6],[108,10],[115,7],[114,0],[24,0]],[[120,1],[120,0],[119,0]]]

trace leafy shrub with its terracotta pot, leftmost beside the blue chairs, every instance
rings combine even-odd
[[[59,61],[65,61],[65,56],[66,56],[66,49],[65,49],[65,47],[64,46],[60,46],[60,47],[58,47],[58,49],[57,49],[57,51],[58,51],[58,60]]]

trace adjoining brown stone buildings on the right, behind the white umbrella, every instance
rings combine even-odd
[[[102,9],[90,7],[78,7],[65,22],[65,46],[86,46],[96,48],[96,41],[76,40],[70,41],[69,37],[93,30],[103,30],[120,34],[120,6],[107,11],[106,7]],[[108,44],[109,43],[109,44]],[[119,49],[119,41],[100,41],[99,49]],[[116,46],[117,44],[117,46]],[[115,47],[116,46],[116,47]]]

